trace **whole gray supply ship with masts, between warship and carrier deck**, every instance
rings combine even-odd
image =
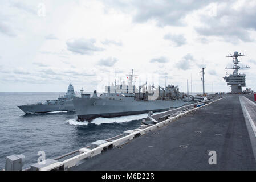
[[[168,85],[165,88],[155,86],[133,85],[133,73],[128,75],[128,85],[106,86],[105,92],[99,97],[94,91],[92,97],[82,94],[81,98],[73,99],[78,115],[78,121],[91,121],[97,117],[118,117],[123,115],[143,114],[149,111],[166,111],[170,108],[185,104],[184,93],[180,93],[177,86]],[[143,92],[141,92],[143,89]],[[81,90],[83,91],[83,90]]]

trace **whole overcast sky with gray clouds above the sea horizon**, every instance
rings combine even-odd
[[[234,51],[256,90],[256,1],[0,2],[0,92],[102,90],[113,80],[229,92]],[[231,73],[232,71],[228,71]],[[245,89],[245,88],[243,88]]]

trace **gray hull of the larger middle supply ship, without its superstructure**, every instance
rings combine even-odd
[[[180,100],[109,100],[94,98],[74,98],[73,104],[79,121],[97,117],[118,117],[122,115],[134,115],[148,113],[149,111],[166,111],[173,107],[184,105]]]

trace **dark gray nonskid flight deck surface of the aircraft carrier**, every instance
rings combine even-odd
[[[216,151],[216,165],[209,151]],[[230,94],[70,169],[255,170],[256,162],[239,96]]]

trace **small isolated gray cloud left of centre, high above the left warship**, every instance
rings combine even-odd
[[[95,46],[95,39],[70,39],[67,40],[67,49],[81,55],[92,55],[95,51],[103,51],[101,47]]]

